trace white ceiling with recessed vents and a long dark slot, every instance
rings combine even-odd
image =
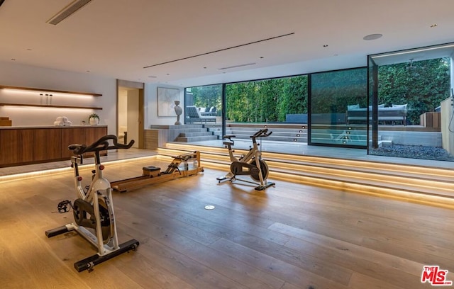
[[[92,0],[46,23],[71,2],[5,0],[0,62],[195,86],[360,67],[370,54],[454,42],[453,0]],[[372,33],[383,37],[362,39]]]

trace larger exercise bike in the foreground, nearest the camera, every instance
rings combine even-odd
[[[109,144],[109,140],[113,145]],[[128,145],[117,142],[115,135],[106,135],[96,140],[88,147],[86,145],[70,145],[75,156],[71,157],[71,167],[74,170],[74,187],[77,199],[74,204],[70,200],[64,200],[58,204],[59,212],[67,212],[68,205],[72,208],[74,222],[71,224],[50,229],[45,232],[48,238],[58,234],[64,234],[75,230],[87,241],[93,244],[98,253],[81,261],[74,263],[74,268],[81,272],[84,270],[93,271],[96,264],[107,261],[114,256],[137,249],[139,242],[131,239],[123,244],[118,244],[116,223],[114,215],[114,204],[112,203],[112,188],[109,181],[103,176],[104,166],[101,164],[99,152],[109,149],[129,149],[134,141]],[[85,188],[82,187],[82,176],[79,175],[79,164],[83,163],[83,154],[94,153],[94,166],[92,171],[92,183]]]

